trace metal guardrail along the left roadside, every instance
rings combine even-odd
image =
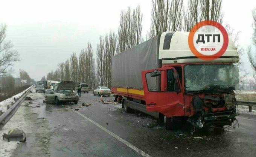
[[[6,111],[2,114],[2,112],[0,114],[0,129],[3,128],[3,126],[5,126],[5,124],[12,118],[12,116],[15,114],[15,112],[17,111],[17,109],[20,107],[20,104],[23,102],[24,98],[27,96],[27,93],[29,93],[29,91],[31,90],[33,86],[31,86],[26,93],[22,93],[21,96],[17,99],[15,99],[15,103],[11,103],[11,107],[9,107],[9,105],[7,105],[7,109]]]

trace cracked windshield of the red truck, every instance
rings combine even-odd
[[[233,64],[192,64],[184,66],[186,91],[234,90],[239,82]]]

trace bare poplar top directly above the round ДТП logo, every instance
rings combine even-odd
[[[212,20],[222,24],[222,0],[200,0],[203,20]]]

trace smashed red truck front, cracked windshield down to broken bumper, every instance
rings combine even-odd
[[[187,121],[196,128],[231,126],[236,120],[235,86],[238,68],[233,64],[184,66]]]

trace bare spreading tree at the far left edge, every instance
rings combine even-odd
[[[6,25],[0,25],[0,76],[9,75],[14,62],[19,61],[19,54],[13,50],[10,40],[6,40]]]

